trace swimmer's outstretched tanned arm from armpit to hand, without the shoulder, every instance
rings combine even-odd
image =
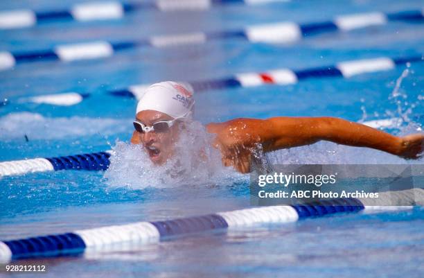
[[[266,140],[269,150],[312,144],[320,140],[348,146],[375,148],[405,158],[417,158],[423,151],[424,134],[396,137],[360,123],[330,117],[265,120],[271,126],[272,137]]]

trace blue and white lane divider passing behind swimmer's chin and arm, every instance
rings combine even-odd
[[[402,123],[402,119],[390,118],[362,122],[371,128],[388,128]],[[0,178],[10,175],[24,175],[27,173],[50,172],[60,170],[105,171],[109,167],[109,157],[113,150],[100,153],[86,153],[82,155],[67,155],[64,157],[47,157],[22,159],[9,162],[0,162]]]

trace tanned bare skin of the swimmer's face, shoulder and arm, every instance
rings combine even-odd
[[[161,112],[146,110],[139,112],[136,119],[149,125],[155,119],[172,118]],[[233,166],[241,173],[251,171],[251,155],[258,146],[267,153],[325,140],[347,146],[374,148],[406,159],[418,158],[424,149],[424,134],[396,137],[360,123],[331,117],[274,117],[265,120],[239,118],[224,123],[209,123],[206,130],[216,134],[213,146],[220,150],[224,166]],[[155,132],[148,133],[134,131],[131,142],[144,146],[152,144]],[[176,136],[175,126],[169,133],[169,136]],[[163,140],[167,135],[158,136]],[[164,157],[169,156],[164,154]]]

